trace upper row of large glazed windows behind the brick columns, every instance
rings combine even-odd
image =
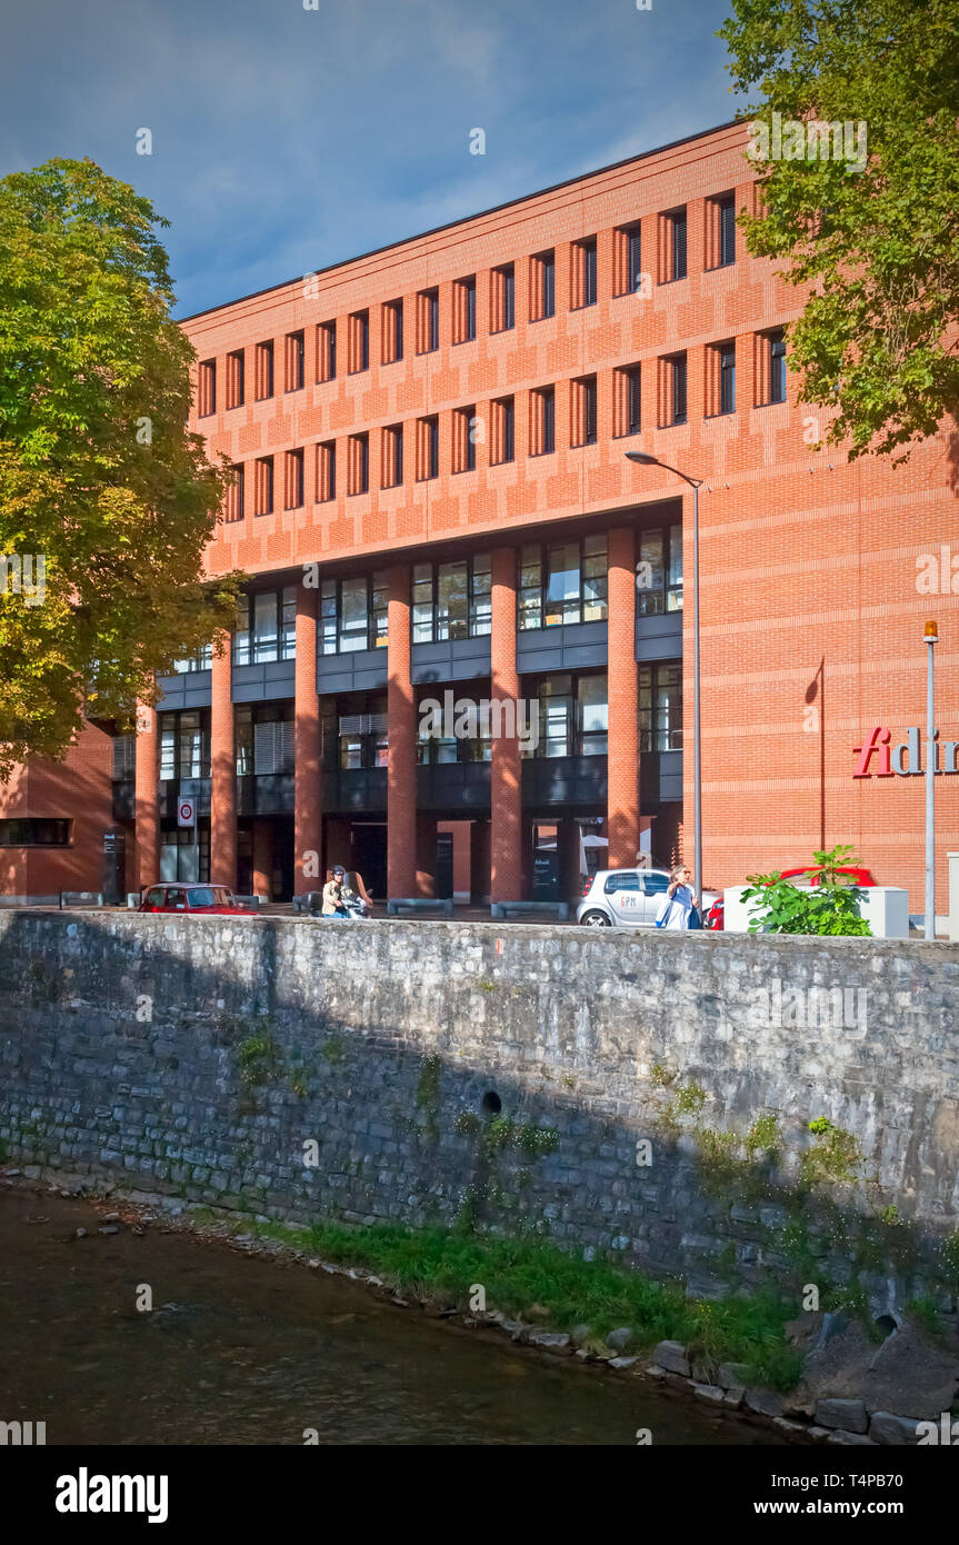
[[[683,525],[642,527],[636,538],[636,610],[655,616],[683,609]],[[520,632],[607,620],[608,548],[604,531],[564,542],[524,542],[517,550],[516,626]],[[412,643],[482,638],[491,630],[490,553],[412,567]],[[389,581],[386,570],[324,579],[320,589],[320,652],[346,655],[385,649]],[[233,664],[293,660],[297,586],[246,593],[236,603]],[[178,672],[207,671],[207,646]]]

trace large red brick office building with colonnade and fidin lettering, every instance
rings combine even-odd
[[[113,748],[128,888],[281,898],[343,862],[380,898],[496,901],[692,857],[692,494],[642,450],[703,479],[706,884],[852,842],[922,910],[923,780],[906,752],[856,777],[854,748],[923,723],[927,616],[959,740],[954,456],[825,448],[784,360],[801,294],[734,224],[744,145],[726,125],[184,323],[193,426],[238,468],[208,572],[249,595],[232,647],[184,661]],[[463,703],[516,700],[525,745],[496,706],[456,729]],[[0,850],[8,891],[99,888],[107,751],[91,729],[5,791],[6,820],[74,822],[68,851]],[[954,763],[944,746],[939,910]]]

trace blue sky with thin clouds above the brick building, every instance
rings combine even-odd
[[[727,11],[34,0],[2,23],[0,175],[91,156],[133,182],[187,315],[726,122]]]

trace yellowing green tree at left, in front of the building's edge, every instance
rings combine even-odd
[[[85,714],[128,725],[232,620],[235,578],[202,578],[229,473],[185,428],[165,224],[91,161],[0,181],[0,777]]]

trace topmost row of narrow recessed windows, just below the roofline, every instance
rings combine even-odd
[[[735,263],[735,196],[723,193],[706,201],[704,226],[706,267],[727,267]],[[613,232],[612,294],[632,295],[644,290],[647,272],[642,267],[642,238],[636,221]],[[556,315],[556,249],[536,252],[528,258],[530,321]],[[568,309],[595,306],[599,298],[598,239],[584,236],[570,244]],[[687,212],[667,210],[658,219],[656,281],[670,284],[687,277]],[[490,332],[508,332],[516,326],[516,264],[503,263],[490,270]],[[469,273],[452,286],[451,335],[454,343],[476,338],[477,275]],[[344,338],[346,372],[357,375],[369,369],[371,317],[369,307],[346,318],[321,321],[315,326],[317,383],[330,382],[338,368],[338,334]],[[440,292],[420,290],[414,300],[412,345],[417,354],[432,354],[440,346]],[[405,352],[405,303],[388,300],[380,318],[381,365],[395,365]],[[276,341],[266,338],[253,345],[253,399],[263,402],[275,394]],[[208,417],[218,408],[218,362],[199,366],[198,414]],[[283,389],[303,391],[306,385],[306,329],[287,332],[283,340]],[[225,408],[242,408],[247,400],[246,349],[225,355]]]

